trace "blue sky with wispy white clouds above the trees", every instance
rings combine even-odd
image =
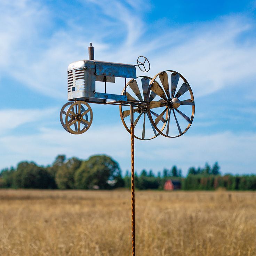
[[[177,165],[185,175],[218,161],[222,173],[256,173],[256,1],[3,0],[0,9],[0,168],[104,153],[130,169],[117,106],[91,104],[93,124],[82,135],[59,122],[67,65],[87,59],[92,42],[98,60],[135,64],[145,55],[147,75],[176,70],[193,90],[189,131],[136,140],[137,171]]]

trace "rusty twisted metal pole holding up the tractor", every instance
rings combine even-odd
[[[131,111],[131,248],[132,256],[135,256],[135,187],[134,187],[134,125],[133,105]]]

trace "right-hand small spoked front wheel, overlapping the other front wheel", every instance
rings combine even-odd
[[[85,101],[72,103],[66,112],[65,126],[72,134],[82,134],[87,131],[93,121],[93,111]]]

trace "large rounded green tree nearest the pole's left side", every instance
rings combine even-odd
[[[116,161],[106,155],[94,155],[81,163],[75,172],[77,189],[110,189],[123,186],[121,170]]]

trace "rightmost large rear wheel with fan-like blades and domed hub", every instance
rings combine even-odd
[[[167,70],[155,75],[149,85],[147,102],[149,119],[158,133],[175,138],[190,128],[195,113],[194,96],[189,83],[178,72]],[[158,123],[165,116],[166,126],[160,130]]]

